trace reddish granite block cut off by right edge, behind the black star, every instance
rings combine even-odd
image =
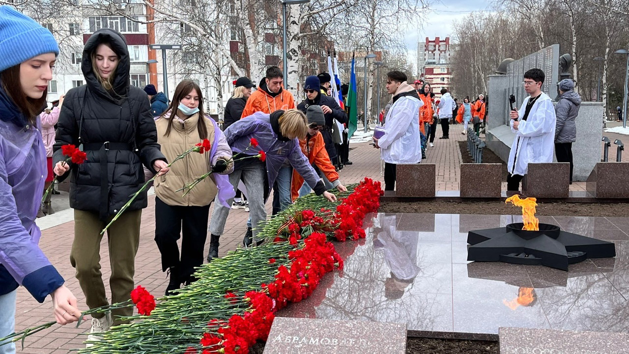
[[[595,198],[629,198],[629,163],[597,163],[586,190]]]

